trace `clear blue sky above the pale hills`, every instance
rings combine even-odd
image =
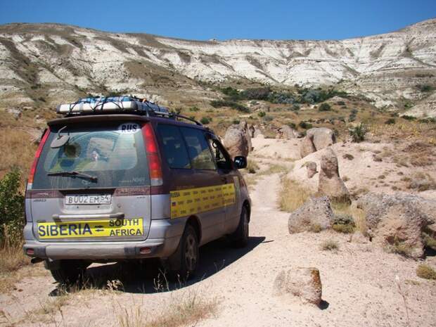
[[[345,39],[436,17],[436,0],[0,0],[0,24],[65,23],[183,39]]]

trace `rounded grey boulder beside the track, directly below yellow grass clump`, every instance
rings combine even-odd
[[[321,231],[331,227],[333,210],[326,196],[309,198],[301,207],[290,214],[288,219],[289,233],[303,231]]]

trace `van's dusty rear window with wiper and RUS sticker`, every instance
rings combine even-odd
[[[149,186],[146,151],[141,126],[136,122],[67,125],[60,135],[69,135],[68,143],[51,148],[58,138],[53,127],[38,161],[32,188],[115,188]],[[78,172],[96,177],[49,176]]]

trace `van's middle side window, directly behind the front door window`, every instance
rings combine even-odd
[[[209,144],[200,129],[181,127],[181,133],[186,141],[189,158],[194,169],[216,169]]]

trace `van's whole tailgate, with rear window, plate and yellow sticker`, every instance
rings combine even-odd
[[[150,177],[141,124],[132,120],[51,127],[27,192],[39,241],[147,238]],[[69,136],[68,143],[51,147],[62,135]]]

